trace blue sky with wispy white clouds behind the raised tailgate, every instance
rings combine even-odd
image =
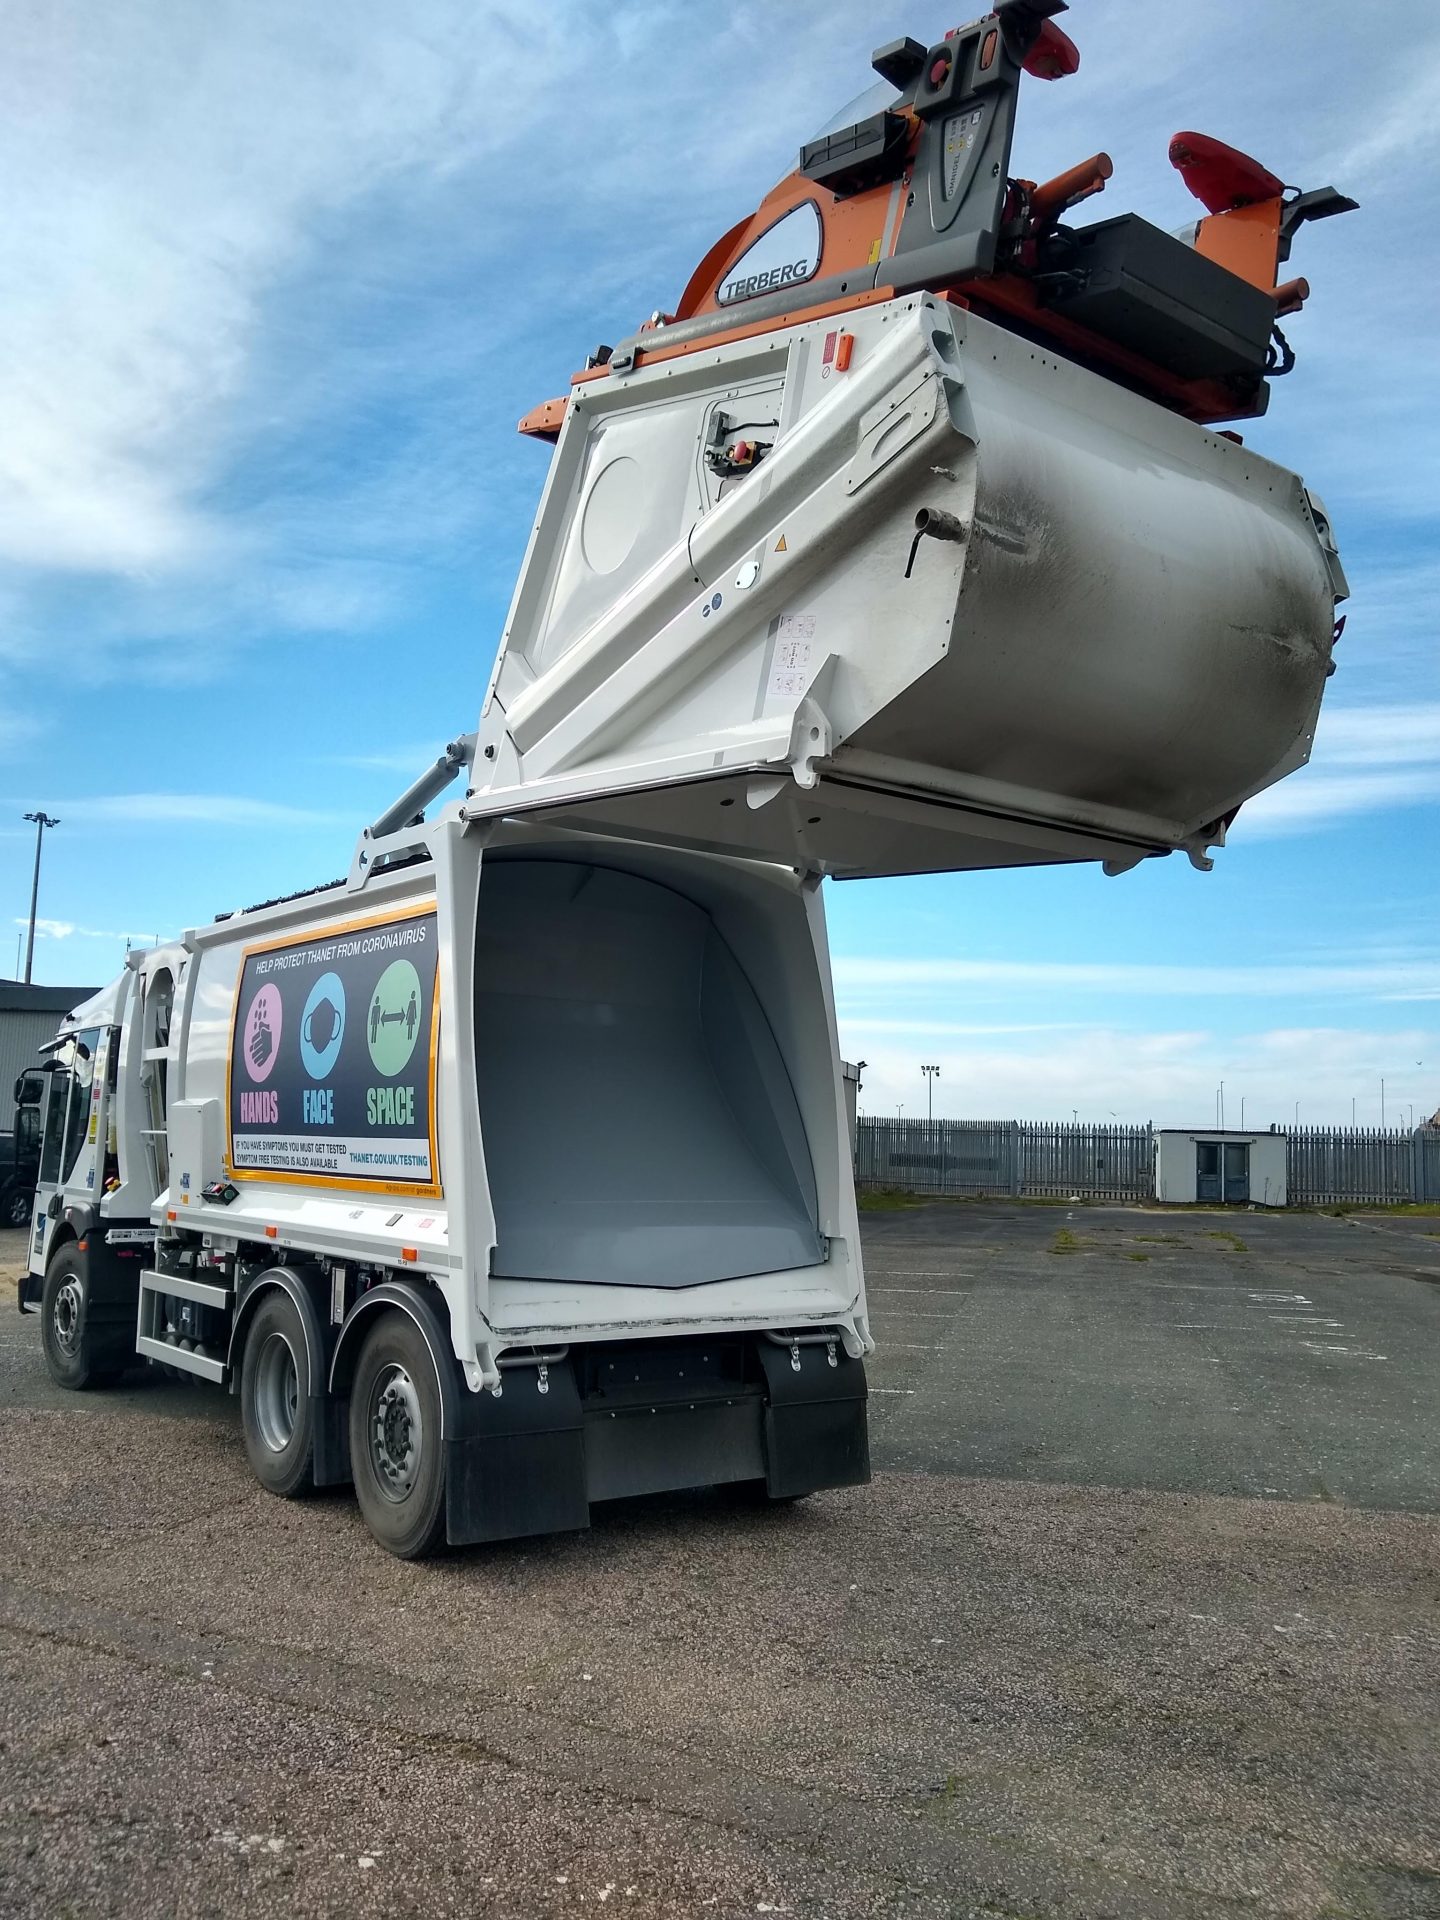
[[[0,914],[36,979],[344,870],[474,724],[547,451],[516,417],[964,6],[4,6]],[[1440,1104],[1440,12],[1077,0],[1016,171],[1194,215],[1181,127],[1361,211],[1308,228],[1300,367],[1244,432],[1354,599],[1313,764],[1215,872],[829,889],[864,1104],[1375,1123]],[[0,950],[0,970],[13,966]]]

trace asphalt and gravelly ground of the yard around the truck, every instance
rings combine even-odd
[[[0,1236],[0,1912],[1436,1916],[1438,1235],[870,1213],[868,1488],[420,1567]]]

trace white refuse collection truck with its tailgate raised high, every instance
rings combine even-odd
[[[267,1488],[353,1480],[399,1555],[868,1476],[824,879],[1206,868],[1304,764],[1346,591],[1217,422],[1348,202],[1185,134],[1185,238],[1064,225],[1106,157],[1010,171],[1058,12],[879,50],[520,422],[555,451],[476,732],[342,881],[65,1020],[21,1283],[61,1384],[228,1386]]]

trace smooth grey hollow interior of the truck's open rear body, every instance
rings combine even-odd
[[[616,868],[486,862],[474,1012],[497,1277],[693,1286],[824,1260],[795,1089],[703,906]]]

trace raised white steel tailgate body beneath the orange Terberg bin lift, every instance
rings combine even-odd
[[[845,372],[822,321],[572,396],[467,816],[837,876],[1204,860],[1309,755],[1344,580],[1300,480],[931,296],[845,328]],[[716,407],[778,386],[697,503]]]

